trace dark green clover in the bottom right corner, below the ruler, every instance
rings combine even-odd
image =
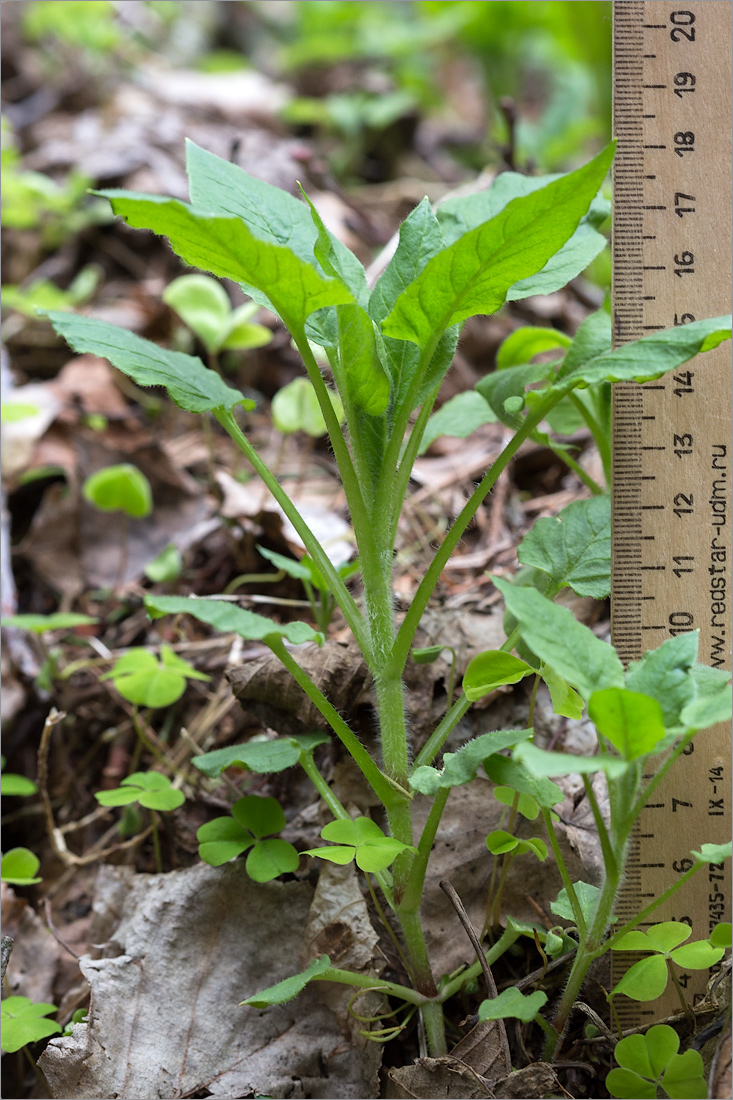
[[[616,1043],[605,1087],[620,1100],[656,1100],[659,1089],[670,1100],[704,1100],[708,1085],[699,1050],[678,1054],[679,1035],[669,1024],[655,1024],[644,1035]]]

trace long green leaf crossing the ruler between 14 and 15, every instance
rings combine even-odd
[[[701,352],[712,351],[731,339],[731,315],[691,321],[664,332],[654,332],[614,351],[568,367],[567,358],[557,385],[592,386],[599,382],[650,382],[687,363]],[[569,355],[570,353],[568,353]]]

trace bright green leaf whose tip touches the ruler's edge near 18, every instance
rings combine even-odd
[[[492,314],[508,289],[540,270],[572,235],[613,158],[613,145],[577,172],[513,199],[444,249],[400,295],[386,336],[425,346],[452,324]]]

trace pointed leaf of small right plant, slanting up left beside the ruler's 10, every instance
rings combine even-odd
[[[519,623],[529,648],[577,688],[586,701],[594,691],[623,686],[624,670],[613,646],[597,638],[569,608],[501,578],[494,578],[494,584]]]

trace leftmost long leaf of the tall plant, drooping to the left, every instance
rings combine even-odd
[[[232,389],[200,359],[167,351],[117,324],[76,314],[48,312],[46,317],[67,344],[80,354],[108,359],[139,386],[165,386],[171,399],[188,413],[210,413],[237,405],[254,408],[254,402]]]

